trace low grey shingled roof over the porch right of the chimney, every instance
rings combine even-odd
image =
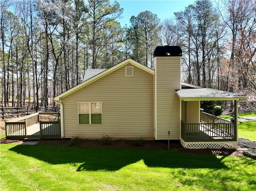
[[[242,94],[210,88],[181,89],[176,90],[176,93],[184,101],[238,100],[248,98],[248,96]]]

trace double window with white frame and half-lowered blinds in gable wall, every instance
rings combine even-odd
[[[78,124],[102,124],[102,102],[78,102]]]

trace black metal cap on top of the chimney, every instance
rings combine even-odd
[[[154,57],[156,56],[181,56],[182,50],[179,46],[157,46],[154,50]]]

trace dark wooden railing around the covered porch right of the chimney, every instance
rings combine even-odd
[[[200,122],[181,122],[181,137],[184,141],[236,141],[234,123],[204,112],[201,112]]]

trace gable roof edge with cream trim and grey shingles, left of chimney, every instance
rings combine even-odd
[[[144,65],[142,65],[142,64],[140,64],[140,63],[138,63],[138,62],[136,62],[136,61],[134,61],[130,58],[128,58],[128,59],[118,63],[117,65],[114,65],[113,67],[111,67],[109,69],[98,69],[98,70],[92,69],[92,71],[89,70],[88,71],[89,76],[85,78],[85,81],[76,85],[75,87],[72,87],[71,89],[65,91],[64,93],[61,93],[60,95],[54,97],[54,100],[56,100],[56,101],[61,100],[62,98],[72,94],[73,92],[78,91],[79,89],[93,83],[94,81],[96,81],[96,80],[98,80],[98,79],[116,71],[117,69],[119,69],[119,68],[121,68],[121,67],[123,67],[127,64],[132,64],[132,65],[134,65],[134,66],[136,66],[136,67],[138,67],[138,68],[140,68],[140,69],[142,69],[142,70],[144,70],[144,71],[146,71],[146,72],[148,72],[152,75],[154,75],[154,73],[155,73],[155,71],[153,69],[150,69],[150,68],[148,68],[148,67],[146,67],[146,66],[144,66]]]

